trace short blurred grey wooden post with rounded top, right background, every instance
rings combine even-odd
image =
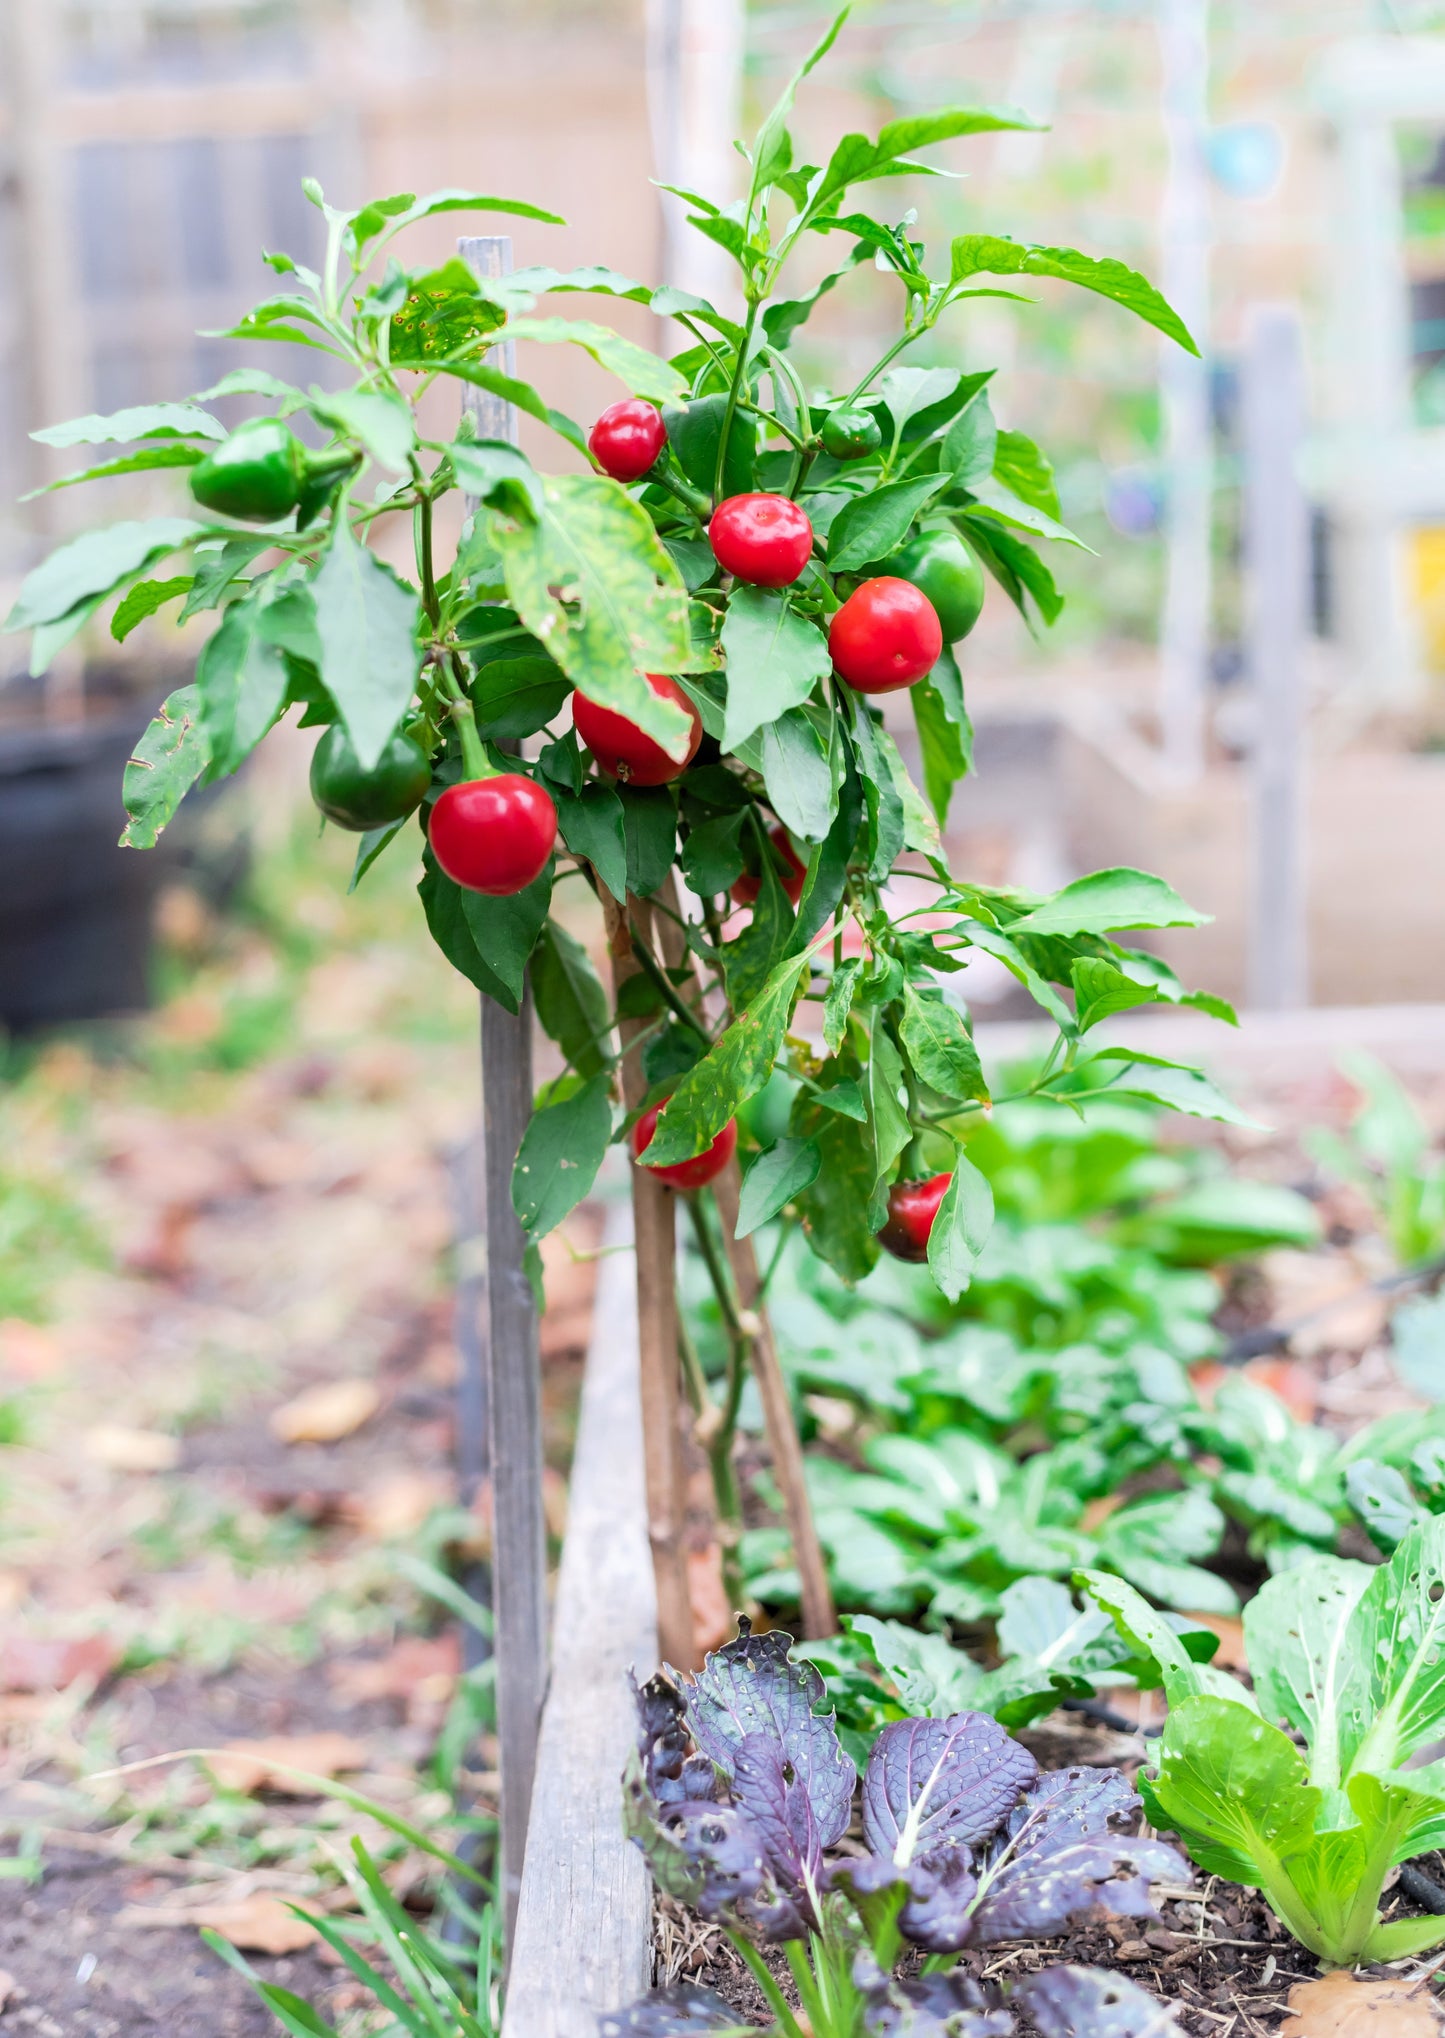
[[[1247,648],[1253,685],[1253,901],[1249,1003],[1308,1003],[1304,872],[1304,638],[1308,509],[1298,459],[1304,361],[1298,314],[1255,306],[1241,389]]]

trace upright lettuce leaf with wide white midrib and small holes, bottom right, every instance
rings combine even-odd
[[[1304,1734],[1308,1779],[1339,1789],[1339,1728],[1363,1704],[1370,1665],[1349,1639],[1349,1622],[1372,1579],[1368,1563],[1308,1557],[1268,1577],[1245,1606],[1245,1655],[1266,1720]]]

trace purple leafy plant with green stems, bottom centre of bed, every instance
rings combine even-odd
[[[793,1661],[791,1637],[754,1637],[740,1620],[699,1675],[662,1671],[638,1690],[638,1749],[624,1775],[626,1830],[654,1881],[726,1930],[768,2001],[774,2038],[1007,2038],[1013,2012],[950,1956],[1103,1916],[1154,1916],[1149,1881],[1186,1875],[1174,1848],[1131,1830],[1139,1800],[1117,1769],[1041,1773],[980,1712],[882,1728],[862,1773],[858,1846],[848,1840],[858,1775],[821,1702],[823,1681]],[[762,1944],[785,1948],[801,2014]],[[929,1956],[917,1979],[895,1975],[909,1946]],[[1172,2028],[1113,1977],[1060,1969],[1033,1987],[1029,2009],[1046,2032]],[[673,1991],[603,2030],[662,2038],[734,2026],[717,1997]]]

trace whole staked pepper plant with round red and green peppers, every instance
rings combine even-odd
[[[1048,459],[995,422],[993,369],[960,367],[944,330],[978,298],[1019,300],[1001,277],[1058,277],[1194,342],[1117,261],[976,230],[938,265],[913,214],[862,208],[860,192],[935,173],[919,149],[1027,126],[1017,114],[909,116],[842,137],[823,165],[795,161],[795,88],[846,12],[744,151],[746,198],[683,194],[691,224],[738,265],[740,316],[605,267],[408,269],[399,236],[438,214],[552,216],[467,192],[344,212],[308,181],[326,220],[320,269],[267,255],[281,287],[228,338],[310,348],[334,385],[245,367],[188,401],[39,432],[53,446],[135,448],[55,485],[175,469],[192,514],[61,544],[8,628],[35,634],[39,671],[110,601],[114,638],[161,611],[214,618],[194,683],[126,768],[128,846],[155,844],[192,785],[234,772],[287,715],[322,732],[312,789],[359,836],[353,882],[420,819],[434,940],[510,1011],[530,970],[565,1062],[516,1162],[534,1241],[618,1139],[697,1200],[732,1166],[736,1115],[783,1058],[799,1090],[787,1129],[748,1141],[740,1233],[791,1206],[844,1280],[887,1247],[927,1259],[958,1296],[993,1213],[962,1145],[991,1109],[958,995],[970,958],[1003,962],[1058,1025],[1031,1094],[1072,1111],[1117,1094],[1205,1117],[1231,1107],[1188,1066],[1096,1045],[1109,1015],[1186,999],[1158,960],[1115,942],[1198,921],[1166,882],[1105,870],[1046,899],[972,884],[944,856],[972,742],[954,646],[984,575],[1025,618],[1052,622],[1060,595],[1039,540],[1078,542]],[[789,263],[819,243],[838,265],[791,293]],[[862,265],[895,293],[893,336],[850,389],[809,391],[793,342]],[[577,293],[650,306],[685,344],[664,361],[591,320],[538,312]],[[583,346],[628,395],[585,434],[497,365],[501,342]],[[428,436],[420,404],[438,383],[501,397],[587,471],[542,473],[467,418]],[[228,432],[206,408],[220,397],[267,412]],[[459,491],[469,516],[442,558],[438,505]],[[383,556],[404,532],[410,573]],[[921,787],[887,695],[907,697]],[[903,872],[923,901],[907,909],[891,893]],[[648,903],[632,911],[636,974],[616,1003],[550,915],[569,882],[613,925],[628,901]],[[626,1109],[618,1023],[646,1086]],[[738,1323],[721,1406],[703,1410],[719,1506],[736,1518],[728,1441],[748,1312],[724,1296],[715,1213],[695,1215]]]

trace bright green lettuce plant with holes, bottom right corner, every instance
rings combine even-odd
[[[1190,1661],[1121,1579],[1080,1584],[1164,1675],[1170,1714],[1139,1781],[1156,1826],[1260,1889],[1325,1967],[1445,1942],[1445,1918],[1380,1908],[1390,1871],[1445,1842],[1445,1761],[1410,1767],[1445,1738],[1445,1520],[1374,1569],[1313,1557],[1272,1577],[1243,1616],[1253,1692]]]

